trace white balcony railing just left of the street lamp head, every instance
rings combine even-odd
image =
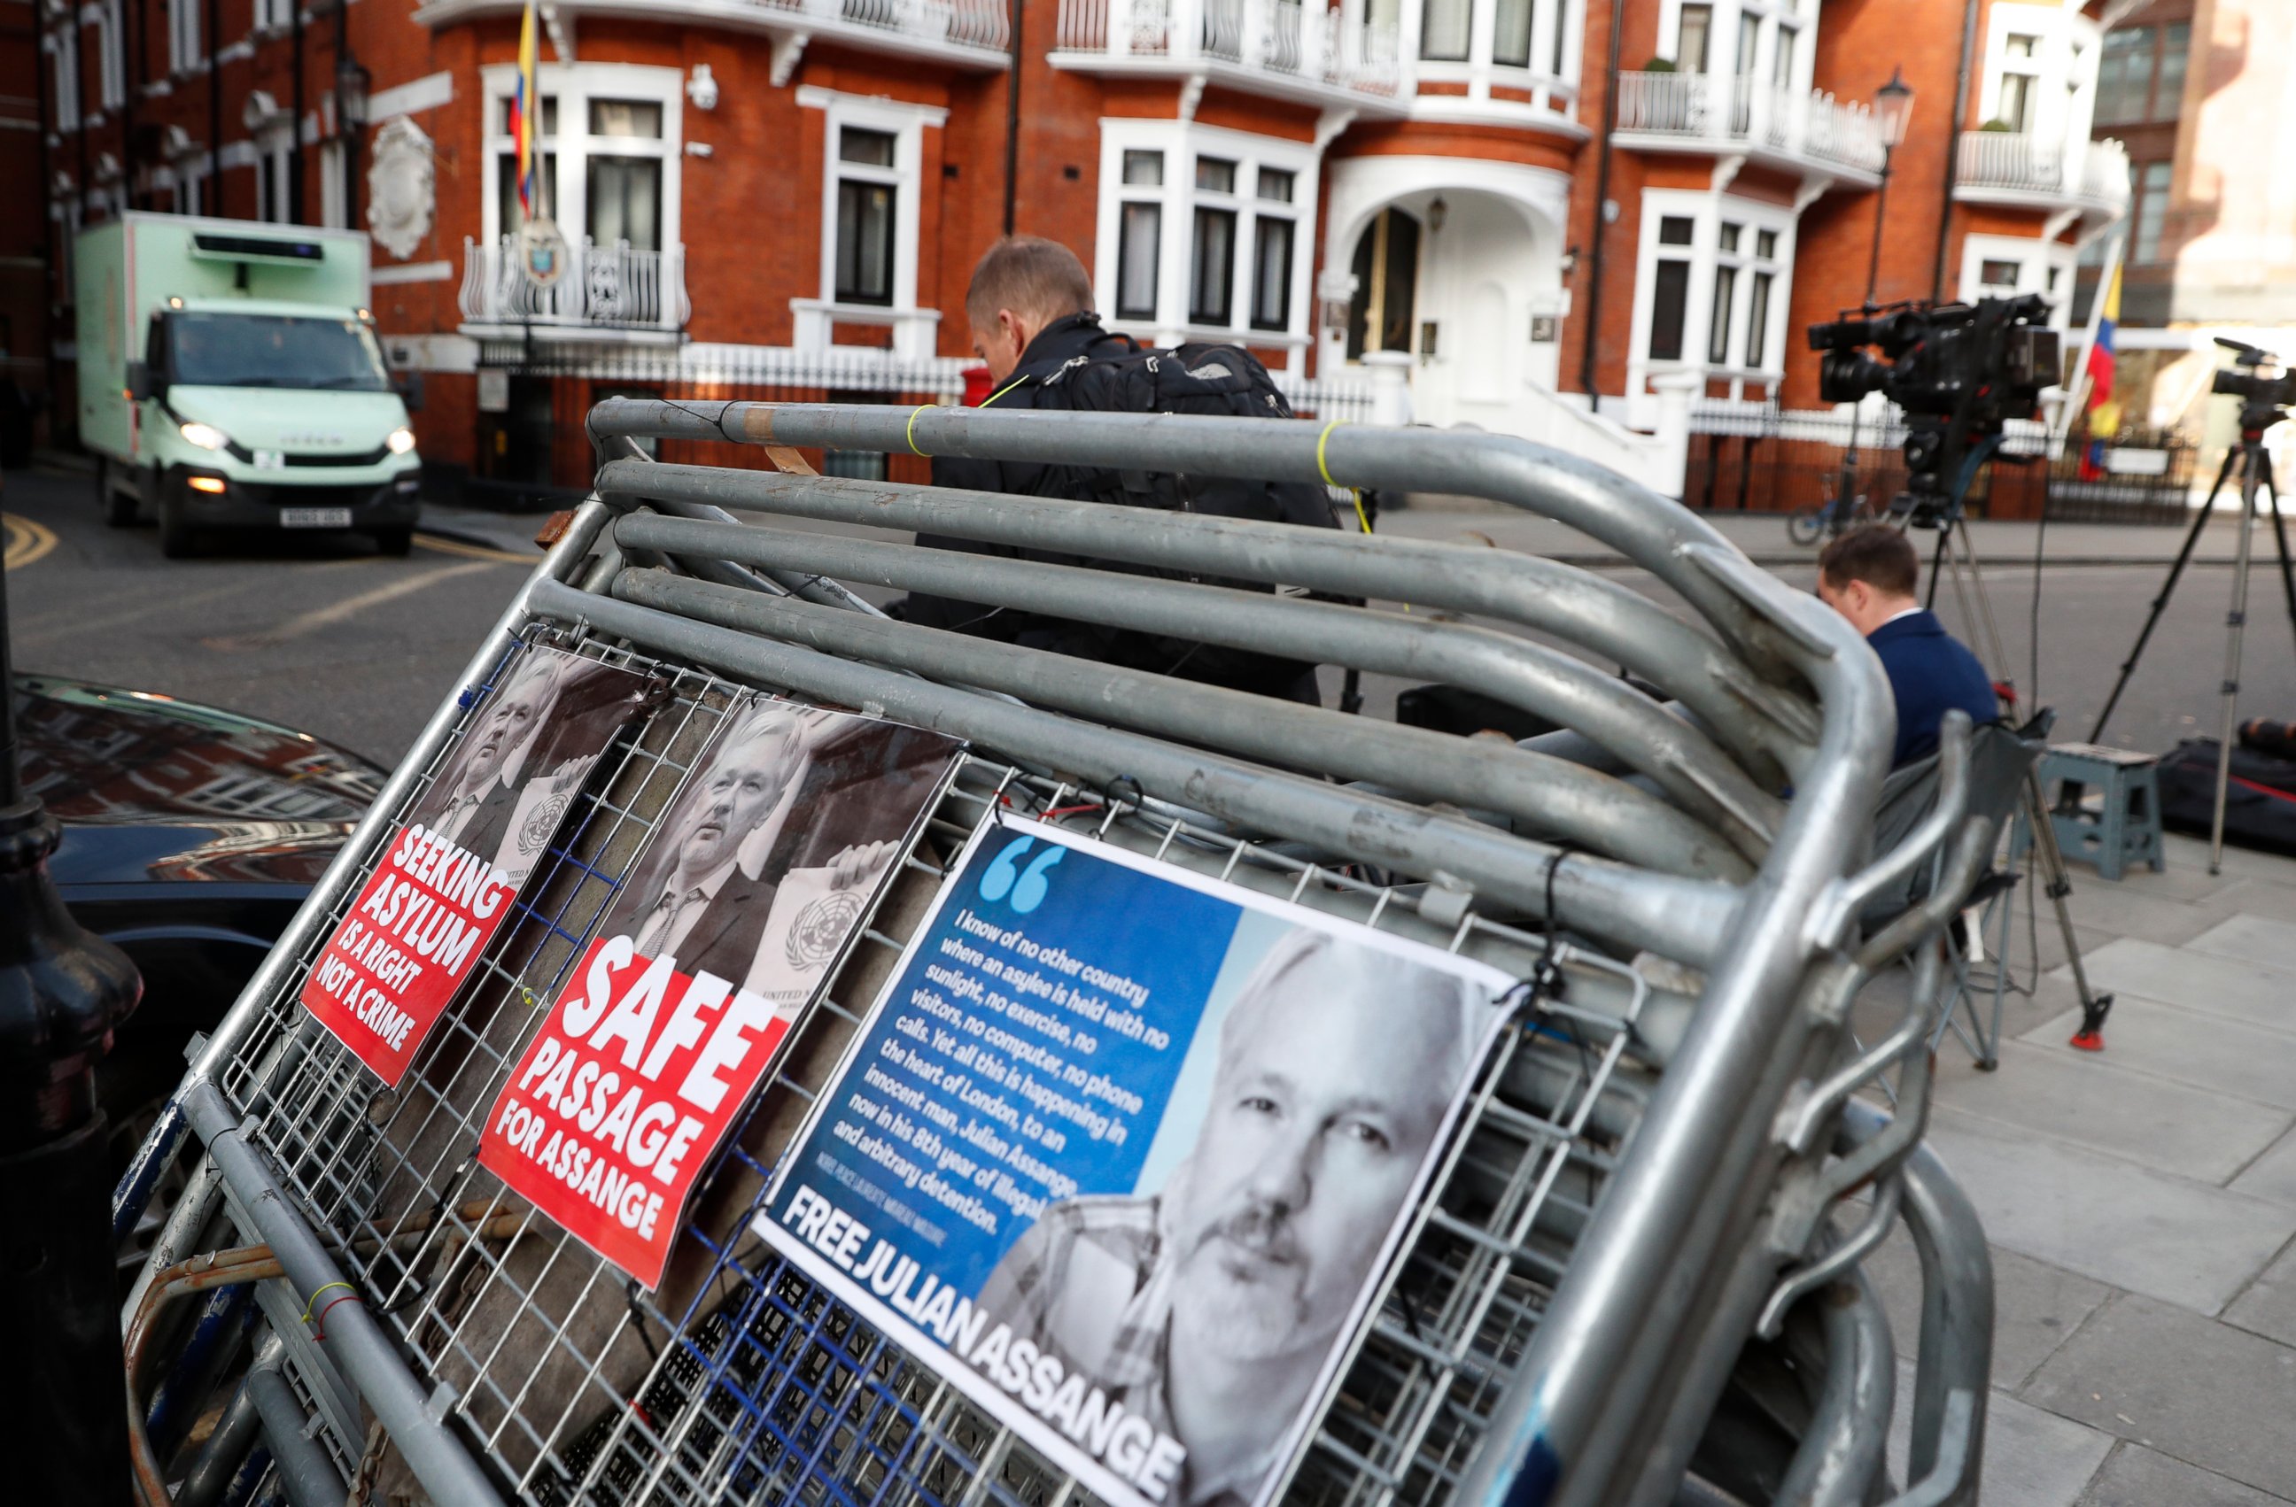
[[[1729,73],[1621,73],[1619,131],[1880,172],[1874,110]]]

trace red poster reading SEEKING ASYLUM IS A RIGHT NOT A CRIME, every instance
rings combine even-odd
[[[654,684],[528,647],[464,729],[303,979],[303,1007],[397,1087]]]

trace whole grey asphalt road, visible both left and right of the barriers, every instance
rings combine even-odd
[[[154,530],[106,528],[90,479],[71,473],[7,477],[5,507],[21,521],[9,528],[7,573],[18,667],[230,706],[383,764],[406,750],[455,688],[478,638],[530,564],[468,537],[439,534],[420,537],[406,560],[381,557],[356,539],[296,534],[248,534],[200,560],[163,560]],[[517,525],[503,532],[517,534]],[[1382,518],[1382,532],[1486,541],[1499,534],[1499,544],[1515,544],[1488,514],[1398,512]],[[1784,537],[1773,521],[1759,521],[1747,546],[1766,548],[1773,532]],[[2133,555],[2128,562],[2048,567],[2041,576],[2037,684],[2041,700],[2062,713],[2060,741],[2087,736],[2179,544],[2172,528],[2108,534],[2105,553]],[[2165,750],[2213,732],[2229,539],[2229,525],[2209,530],[2204,564],[2177,587],[2105,741]],[[1522,544],[1552,548],[1538,539]],[[2101,548],[2057,530],[2050,544],[2080,551],[2082,560]],[[2259,534],[2259,553],[2271,557],[2268,532]],[[1798,587],[1812,585],[1809,567],[1777,569]],[[1637,573],[1619,578],[1649,587]],[[2032,557],[1991,557],[1986,580],[2009,674],[2032,686]],[[1952,592],[1940,594],[1940,612],[1972,645],[1981,642],[1961,622]],[[2241,716],[2296,720],[2291,647],[2278,573],[2259,569],[2250,587]],[[1368,709],[1391,716],[1398,684],[1366,681]],[[1327,672],[1327,700],[1332,690],[1336,674]]]

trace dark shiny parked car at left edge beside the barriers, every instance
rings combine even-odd
[[[16,718],[25,789],[64,828],[48,872],[145,977],[96,1071],[124,1165],[386,775],[308,732],[53,674],[16,677]]]

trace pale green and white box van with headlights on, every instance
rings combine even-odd
[[[420,461],[351,229],[129,213],[76,245],[80,443],[106,521],[360,530],[404,555]]]

